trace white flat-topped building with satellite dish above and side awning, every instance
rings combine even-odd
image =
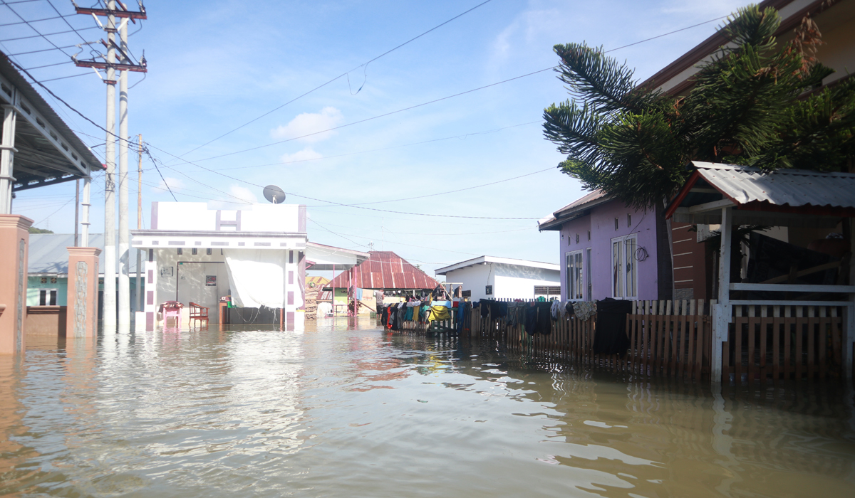
[[[280,314],[283,324],[300,326],[307,267],[346,270],[369,258],[309,242],[302,204],[226,210],[205,202],[152,202],[151,228],[131,233],[132,247],[144,250],[145,304],[137,323],[146,330],[159,325],[159,305],[166,301],[210,308],[216,323],[226,296],[236,308],[258,310],[250,316],[265,310],[268,320]]]

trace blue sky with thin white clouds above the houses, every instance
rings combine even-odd
[[[430,275],[480,255],[557,263],[557,232],[539,232],[537,220],[585,192],[557,169],[564,158],[543,138],[543,109],[569,96],[551,70],[513,78],[555,66],[555,44],[586,42],[634,44],[610,56],[646,79],[745,4],[490,0],[472,9],[482,2],[145,2],[148,20],[131,25],[129,47],[148,73],[131,74],[128,100],[130,134],[159,161],[158,172],[143,158],[143,226],[150,202],[173,200],[168,189],[181,202],[236,209],[266,202],[262,187],[278,185],[286,202],[308,206],[310,241],[391,250]],[[12,58],[39,67],[35,78],[103,126],[105,85],[70,55],[106,33],[64,0],[0,3],[0,50],[44,50]],[[68,17],[36,21],[57,11]],[[36,31],[71,27],[80,34]],[[105,133],[38,90],[103,161]],[[135,228],[133,152],[130,163]],[[21,191],[13,212],[74,232],[74,183]],[[99,173],[91,232],[101,231]]]

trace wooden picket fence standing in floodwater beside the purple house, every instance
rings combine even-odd
[[[500,301],[500,300],[497,300]],[[528,301],[531,302],[531,301]],[[641,376],[709,380],[712,319],[716,301],[639,301],[626,317],[626,354],[595,354],[597,316],[563,316],[551,321],[549,335],[530,336],[524,320],[493,318],[481,309],[465,313],[461,336],[495,341],[510,351],[545,361],[575,363]],[[456,332],[451,320],[433,325],[404,322],[402,331]],[[722,381],[766,382],[840,378],[844,321],[834,306],[734,306],[733,324],[722,344]]]

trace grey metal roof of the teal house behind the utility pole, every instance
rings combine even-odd
[[[68,247],[74,246],[73,233],[31,233],[27,252],[28,273],[68,274]],[[102,233],[89,234],[89,246],[103,249]],[[137,256],[131,251],[131,272],[137,272]],[[104,254],[98,256],[98,272],[103,273]]]

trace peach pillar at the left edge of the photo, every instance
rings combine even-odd
[[[30,226],[29,218],[0,214],[0,354],[23,354],[26,348]]]

